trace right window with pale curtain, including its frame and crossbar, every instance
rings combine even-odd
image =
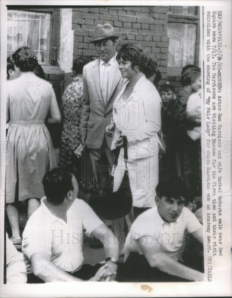
[[[187,64],[198,65],[200,20],[197,6],[169,6],[169,75],[180,75]]]

